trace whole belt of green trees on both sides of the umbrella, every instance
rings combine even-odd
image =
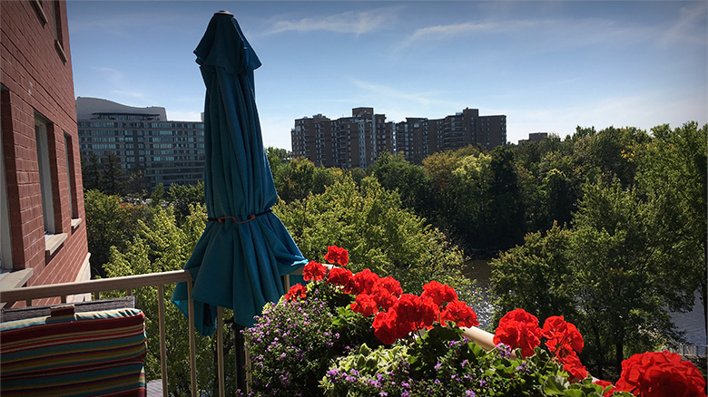
[[[706,131],[578,128],[422,165],[384,154],[366,170],[266,151],[273,210],[305,257],[346,247],[354,266],[395,275],[411,292],[429,279],[469,290],[463,260],[494,258],[497,311],[565,315],[585,335],[588,369],[611,379],[622,358],[680,340],[668,309],[688,310],[695,291],[705,304]],[[181,268],[205,222],[203,185],[124,201],[85,194],[95,272]]]

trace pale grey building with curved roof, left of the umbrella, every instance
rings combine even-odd
[[[195,184],[204,176],[204,123],[168,121],[162,107],[136,108],[98,98],[76,99],[81,155],[113,152],[127,175],[146,187]]]

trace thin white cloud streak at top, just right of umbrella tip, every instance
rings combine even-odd
[[[274,23],[273,28],[267,34],[315,31],[369,34],[384,29],[388,26],[390,19],[395,17],[395,8],[379,8],[362,12],[348,11],[321,17],[280,20]]]

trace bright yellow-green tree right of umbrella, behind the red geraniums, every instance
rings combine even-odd
[[[437,229],[401,208],[398,194],[376,179],[363,179],[358,186],[345,176],[321,194],[280,201],[273,211],[310,260],[321,261],[328,246],[345,247],[352,271],[369,268],[394,276],[411,293],[435,279],[469,296],[461,253]]]

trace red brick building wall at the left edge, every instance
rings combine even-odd
[[[46,0],[0,2],[0,35],[11,267],[34,269],[29,286],[86,279],[90,276],[89,253],[66,4]],[[54,235],[65,234],[64,242],[52,253],[47,252],[45,244],[34,130],[38,119],[46,121]]]

